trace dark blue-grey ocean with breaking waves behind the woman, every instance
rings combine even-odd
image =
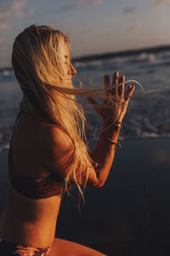
[[[101,88],[103,75],[116,70],[125,75],[126,80],[136,80],[138,84],[123,119],[120,138],[136,140],[144,138],[170,137],[170,49],[159,51],[139,51],[136,55],[108,56],[75,60],[77,75],[73,84],[83,88]],[[125,86],[126,87],[126,86]],[[0,152],[8,149],[14,127],[14,120],[21,101],[20,86],[13,70],[0,69]],[[97,142],[101,131],[101,119],[92,108],[88,109],[88,140]]]

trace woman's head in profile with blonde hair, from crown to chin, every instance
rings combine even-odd
[[[76,74],[71,64],[68,38],[48,26],[32,25],[17,36],[12,64],[20,84],[27,84],[34,74],[34,80],[56,85],[61,82],[61,86],[70,87],[71,76]],[[26,87],[22,90],[25,93]]]

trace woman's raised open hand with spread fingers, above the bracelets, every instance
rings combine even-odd
[[[96,102],[93,97],[87,97],[88,102],[93,105],[96,112],[99,113],[99,115],[103,119],[104,123],[111,124],[113,122],[122,122],[122,119],[127,112],[127,105],[130,97],[133,94],[135,86],[128,85],[127,90],[124,93],[124,82],[125,76],[121,76],[120,78],[118,78],[118,71],[113,74],[112,84],[110,84],[109,74],[105,74],[105,96],[110,96],[111,98],[113,98],[113,101],[109,102],[105,99],[103,104],[99,105],[99,103]],[[112,85],[110,90],[108,90],[108,85]]]

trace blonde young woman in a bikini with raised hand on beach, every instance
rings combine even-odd
[[[12,64],[23,99],[8,153],[0,254],[103,255],[54,238],[56,221],[62,193],[75,185],[80,193],[82,186],[104,185],[134,86],[129,85],[124,94],[125,78],[118,79],[116,72],[111,84],[105,74],[103,89],[74,88],[71,76],[76,70],[70,62],[68,38],[48,26],[30,26],[19,34]],[[88,96],[103,119],[93,152],[83,141],[86,119],[77,95]],[[103,104],[92,96],[103,97]]]

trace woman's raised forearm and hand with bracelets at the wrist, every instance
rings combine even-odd
[[[111,141],[115,143],[117,142],[122,119],[127,111],[127,105],[134,90],[134,86],[129,85],[126,93],[124,93],[124,81],[125,77],[122,76],[118,79],[118,72],[116,72],[113,74],[111,90],[105,90],[105,95],[111,94],[111,96],[115,99],[116,104],[112,105],[112,108],[104,108],[105,105],[108,105],[108,102],[106,101],[104,101],[102,106],[100,106],[97,102],[95,102],[94,98],[88,97],[88,102],[94,106],[96,112],[99,113],[104,121],[102,129],[102,131],[104,131],[104,136],[102,134],[100,135],[99,142],[95,146],[93,152],[90,154],[91,158],[99,164],[99,167],[97,167],[95,170],[98,179],[98,187],[102,187],[104,185],[110,172],[116,151],[116,144],[111,143]],[[105,88],[108,84],[110,84],[110,78],[108,74],[105,74]],[[116,120],[117,125],[111,125],[114,120]]]

